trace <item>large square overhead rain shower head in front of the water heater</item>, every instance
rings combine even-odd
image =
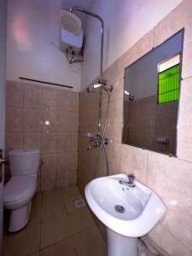
[[[61,9],[59,13],[61,27],[73,34],[79,34],[81,31],[81,20],[78,16],[68,12],[65,9]]]

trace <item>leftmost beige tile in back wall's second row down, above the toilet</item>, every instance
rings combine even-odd
[[[24,131],[23,108],[6,108],[6,131]]]

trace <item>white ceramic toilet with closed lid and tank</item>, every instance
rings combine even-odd
[[[9,152],[12,177],[5,184],[4,208],[10,210],[9,232],[21,230],[30,219],[32,198],[37,189],[39,149]]]

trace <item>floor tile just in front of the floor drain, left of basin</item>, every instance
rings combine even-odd
[[[95,225],[87,207],[79,208],[78,211],[68,214],[68,218],[73,234],[77,234]]]

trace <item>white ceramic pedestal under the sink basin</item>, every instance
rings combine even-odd
[[[108,256],[137,256],[137,237],[121,236],[108,229]]]

